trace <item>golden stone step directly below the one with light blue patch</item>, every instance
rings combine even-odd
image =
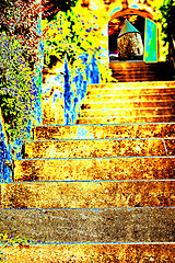
[[[31,140],[26,158],[89,158],[175,156],[174,138]]]

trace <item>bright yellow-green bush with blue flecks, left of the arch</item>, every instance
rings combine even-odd
[[[50,23],[47,20],[43,21],[43,31],[45,38],[45,64],[49,65],[50,56],[56,56],[63,61],[67,56],[71,66],[71,71],[75,72],[77,68],[83,71],[79,56],[82,53],[88,53],[90,59],[95,53],[98,60],[102,59],[102,50],[107,49],[106,37],[102,34],[101,24],[105,24],[105,18],[96,11],[90,12],[79,8],[73,8],[67,13],[59,12],[57,20]],[[90,60],[88,61],[90,62]],[[110,71],[108,65],[100,65],[100,73],[103,80],[110,80]]]

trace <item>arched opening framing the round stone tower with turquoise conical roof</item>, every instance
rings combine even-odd
[[[109,21],[109,61],[143,61],[144,24],[145,19],[138,14],[125,14]]]

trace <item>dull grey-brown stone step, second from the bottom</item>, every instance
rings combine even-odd
[[[0,210],[1,232],[44,243],[174,242],[173,208]]]

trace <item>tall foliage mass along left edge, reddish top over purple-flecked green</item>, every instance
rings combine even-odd
[[[15,139],[26,140],[37,100],[33,93],[33,70],[39,64],[40,10],[43,5],[34,0],[3,0],[0,5],[0,104],[12,147]]]

